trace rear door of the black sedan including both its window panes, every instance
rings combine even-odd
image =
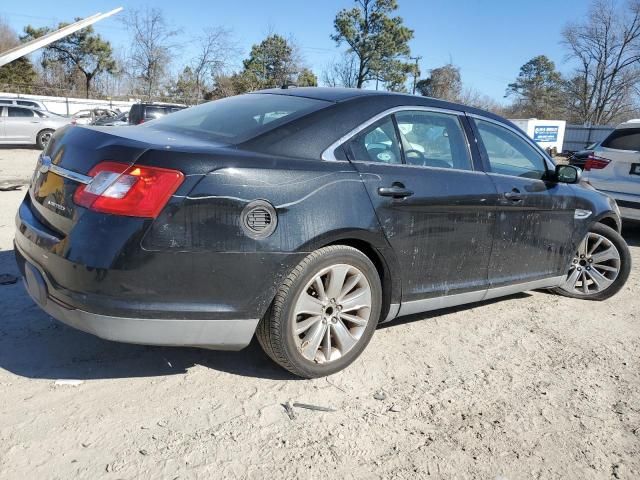
[[[418,107],[346,144],[398,258],[401,315],[446,306],[452,294],[480,300],[488,286],[496,191],[474,170],[464,122],[460,112]]]

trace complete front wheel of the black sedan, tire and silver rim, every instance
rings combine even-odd
[[[565,283],[553,291],[571,298],[606,300],[629,278],[631,253],[618,232],[596,223],[578,245]]]

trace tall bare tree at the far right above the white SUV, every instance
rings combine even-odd
[[[622,8],[596,0],[562,35],[568,59],[578,64],[567,83],[574,121],[608,124],[631,111],[640,81],[640,0]]]

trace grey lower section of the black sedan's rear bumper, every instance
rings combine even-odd
[[[240,350],[251,342],[259,319],[169,319],[102,315],[74,308],[50,294],[39,267],[16,245],[16,260],[31,298],[45,312],[70,327],[106,340],[143,345],[191,346]]]

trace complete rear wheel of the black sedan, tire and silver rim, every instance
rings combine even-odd
[[[324,247],[309,254],[282,283],[256,336],[272,360],[304,378],[350,365],[378,325],[382,287],[361,251]]]

